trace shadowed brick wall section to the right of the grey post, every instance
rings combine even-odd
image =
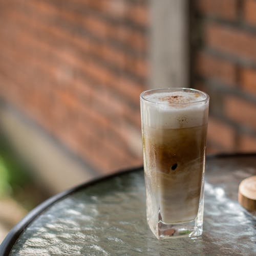
[[[256,150],[256,1],[197,0],[193,84],[210,95],[208,152]]]

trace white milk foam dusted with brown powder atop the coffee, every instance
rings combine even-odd
[[[154,93],[143,97],[143,124],[156,129],[181,129],[206,123],[206,96],[197,92]]]

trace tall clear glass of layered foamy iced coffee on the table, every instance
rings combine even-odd
[[[203,227],[209,97],[185,88],[140,95],[147,222],[158,239]]]

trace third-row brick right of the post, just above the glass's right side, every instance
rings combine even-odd
[[[206,78],[216,79],[233,86],[236,84],[236,67],[221,58],[199,52],[196,59],[196,71]]]

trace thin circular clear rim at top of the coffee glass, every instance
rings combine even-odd
[[[157,92],[157,91],[163,91],[163,90],[169,90],[169,91],[191,91],[191,92],[195,92],[195,93],[200,93],[202,94],[203,96],[205,96],[205,99],[203,100],[196,100],[196,101],[192,101],[192,102],[188,102],[188,103],[182,103],[182,102],[179,102],[179,103],[169,103],[169,102],[156,102],[156,101],[153,101],[153,100],[148,100],[145,98],[145,95],[146,94],[151,94],[151,93],[154,93],[154,92]],[[143,91],[141,94],[140,94],[140,98],[147,101],[147,102],[150,102],[150,103],[154,103],[154,104],[168,104],[168,105],[180,105],[180,104],[186,104],[186,105],[189,105],[189,104],[197,104],[197,103],[200,103],[200,102],[207,102],[209,100],[209,95],[205,92],[202,92],[200,90],[197,90],[197,89],[193,89],[193,88],[186,88],[186,87],[165,87],[165,88],[157,88],[157,89],[150,89],[150,90],[146,90],[146,91]]]

